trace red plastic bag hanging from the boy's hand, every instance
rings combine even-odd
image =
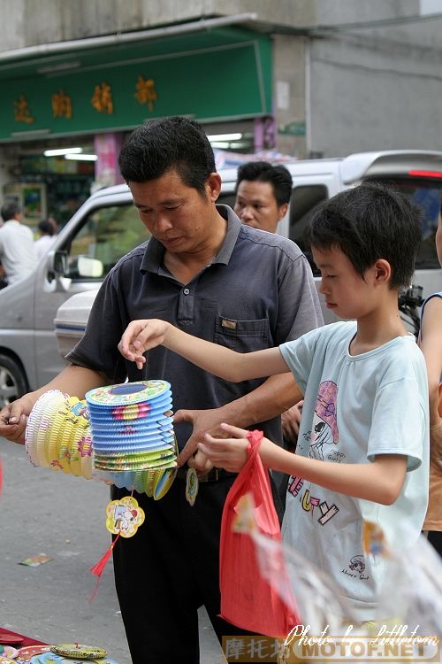
[[[286,637],[298,624],[298,616],[260,574],[252,537],[232,529],[240,498],[250,493],[259,531],[271,539],[282,539],[269,473],[258,454],[262,438],[261,431],[249,432],[248,460],[225,498],[219,555],[220,615],[254,634]]]

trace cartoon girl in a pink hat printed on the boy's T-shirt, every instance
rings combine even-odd
[[[313,459],[324,460],[324,445],[339,443],[337,398],[338,388],[335,382],[324,381],[320,384],[310,435],[309,457]]]

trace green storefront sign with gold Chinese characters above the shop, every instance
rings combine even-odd
[[[85,41],[85,44],[88,40]],[[271,114],[271,38],[245,27],[3,59],[0,142]]]

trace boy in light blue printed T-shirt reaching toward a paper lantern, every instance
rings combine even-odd
[[[293,454],[263,438],[260,456],[290,475],[285,542],[331,576],[361,622],[377,617],[385,578],[385,560],[364,552],[363,521],[377,523],[400,551],[419,536],[428,502],[425,362],[398,313],[420,238],[419,211],[406,197],[370,183],[348,189],[316,210],[308,239],[326,305],[349,322],[241,354],[162,320],[135,320],[119,344],[138,367],[163,344],[232,382],[292,371],[304,398],[298,448]],[[244,465],[247,431],[222,426],[231,437],[206,434],[195,467]]]

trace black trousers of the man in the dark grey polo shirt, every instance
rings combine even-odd
[[[133,493],[145,521],[113,551],[118,601],[133,664],[198,664],[198,614],[205,606],[218,640],[248,635],[218,617],[219,535],[233,478],[200,483],[193,507],[185,481],[164,498]],[[128,495],[112,487],[112,498]]]

